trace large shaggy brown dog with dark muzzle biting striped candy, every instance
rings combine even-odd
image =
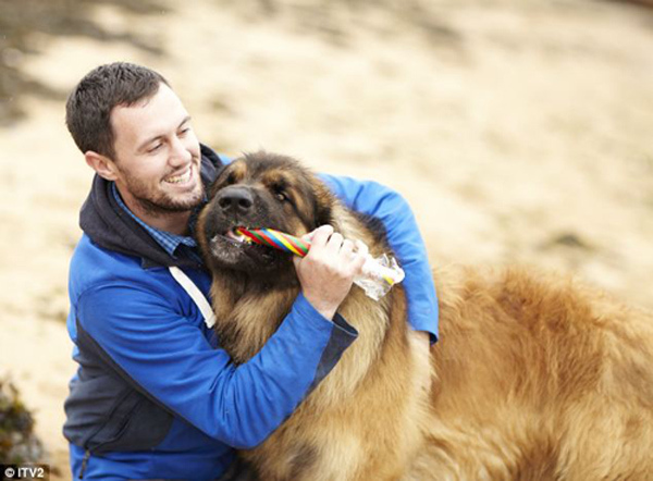
[[[224,208],[241,200],[254,207]],[[299,285],[288,255],[226,234],[246,225],[301,235],[325,223],[373,255],[390,250],[378,223],[292,159],[245,156],[217,180],[197,233],[236,362],[274,333]],[[653,479],[650,313],[522,270],[435,279],[441,341],[431,359],[412,348],[401,288],[377,303],[353,287],[340,312],[359,338],[279,430],[243,453],[260,479]]]

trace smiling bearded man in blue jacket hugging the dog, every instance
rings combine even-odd
[[[88,73],[66,124],[97,173],[69,283],[79,363],[65,403],[73,477],[217,479],[233,448],[262,442],[356,338],[336,310],[361,256],[330,226],[311,233],[292,312],[259,355],[234,366],[208,322],[210,279],[192,237],[205,187],[226,159],[198,143],[161,75],[128,63]],[[407,205],[374,183],[324,178],[384,222],[406,270],[410,323],[428,348],[436,299]]]

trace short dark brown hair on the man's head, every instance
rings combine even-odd
[[[65,104],[65,123],[79,150],[114,159],[111,111],[151,98],[161,84],[170,86],[161,74],[127,62],[100,65],[86,74]]]

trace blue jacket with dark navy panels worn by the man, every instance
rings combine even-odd
[[[222,160],[202,146],[202,181]],[[434,341],[438,307],[424,248],[405,201],[374,183],[324,176],[350,207],[380,218],[406,270],[409,320]],[[65,402],[74,479],[219,478],[234,447],[261,443],[356,338],[299,295],[263,349],[235,366],[173,280],[180,267],[208,297],[193,256],[172,257],[94,180],[71,261],[67,328],[79,368]]]

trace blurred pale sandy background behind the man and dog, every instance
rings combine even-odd
[[[219,152],[390,185],[433,264],[534,264],[653,308],[651,3],[0,0],[0,378],[53,479],[91,180],[64,102],[89,70],[158,70]]]

